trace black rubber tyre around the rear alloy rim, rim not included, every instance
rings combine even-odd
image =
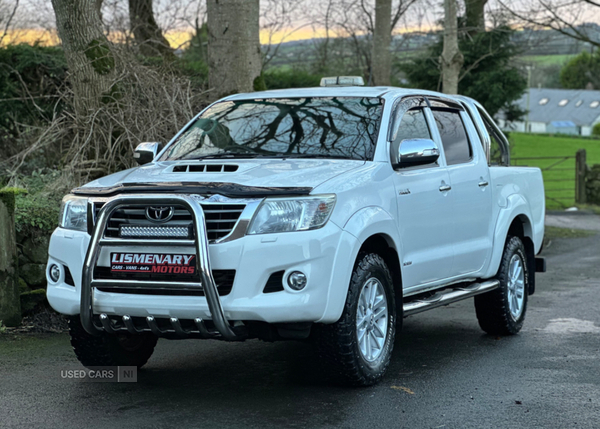
[[[510,261],[517,255],[522,262],[524,271],[523,306],[519,317],[511,314],[509,306],[509,269]],[[500,268],[495,277],[500,286],[493,291],[475,296],[475,312],[479,326],[490,335],[514,335],[523,327],[525,313],[527,312],[527,298],[529,291],[529,271],[525,246],[519,237],[509,236],[504,246],[504,253]]]

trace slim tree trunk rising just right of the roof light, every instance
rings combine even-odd
[[[392,0],[375,1],[375,29],[373,32],[373,85],[390,85],[392,58]]]

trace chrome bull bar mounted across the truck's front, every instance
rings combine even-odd
[[[148,205],[180,205],[187,208],[192,214],[192,221],[194,226],[195,240],[121,240],[116,238],[107,239],[104,238],[104,231],[106,225],[110,219],[111,214],[120,206],[148,206]],[[89,212],[89,208],[88,208]],[[93,213],[93,212],[92,212]],[[91,216],[88,215],[88,222],[92,220]],[[83,265],[83,273],[81,277],[81,302],[80,302],[80,317],[83,328],[91,335],[100,335],[105,331],[110,332],[110,325],[107,324],[106,315],[102,314],[101,322],[103,326],[97,326],[94,323],[94,297],[93,288],[100,286],[102,281],[95,282],[93,279],[94,268],[98,262],[100,256],[100,249],[103,246],[110,245],[127,245],[127,246],[148,246],[148,245],[161,245],[161,246],[185,246],[195,244],[196,249],[196,269],[200,275],[201,283],[189,283],[189,287],[202,288],[204,295],[208,303],[208,308],[212,317],[212,322],[215,325],[221,338],[225,340],[235,341],[243,339],[243,335],[236,334],[229,324],[225,313],[223,312],[223,306],[219,299],[219,293],[217,291],[217,285],[212,275],[210,267],[210,259],[208,254],[208,238],[206,234],[206,222],[204,218],[204,211],[200,206],[200,203],[196,201],[190,195],[164,195],[164,194],[146,194],[146,195],[122,195],[110,198],[106,201],[104,206],[98,213],[98,219],[96,220],[90,245],[87,250],[85,257],[85,263]],[[96,284],[97,283],[97,284]],[[165,287],[169,285],[169,282],[149,282],[144,281],[146,286]],[[174,319],[174,318],[173,318]],[[127,315],[123,315],[123,320],[127,325],[128,331],[132,331],[132,323]],[[147,317],[150,327],[153,327],[154,318],[152,316]],[[195,319],[200,334],[206,333],[206,329],[202,322],[202,319]],[[175,321],[176,322],[176,321]],[[174,323],[174,326],[179,328],[178,323]],[[179,331],[181,328],[176,329]],[[152,329],[154,332],[155,329]],[[183,331],[181,332],[183,333]]]

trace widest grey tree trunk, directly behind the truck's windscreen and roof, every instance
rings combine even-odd
[[[253,91],[261,73],[259,0],[207,0],[212,96]]]

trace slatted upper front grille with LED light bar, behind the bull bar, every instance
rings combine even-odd
[[[95,203],[94,219],[104,203]],[[209,242],[214,242],[231,233],[245,204],[202,204],[206,219],[206,232]],[[105,237],[109,238],[193,238],[192,215],[182,206],[174,206],[173,216],[166,222],[156,223],[146,217],[147,207],[121,207],[113,212]]]

